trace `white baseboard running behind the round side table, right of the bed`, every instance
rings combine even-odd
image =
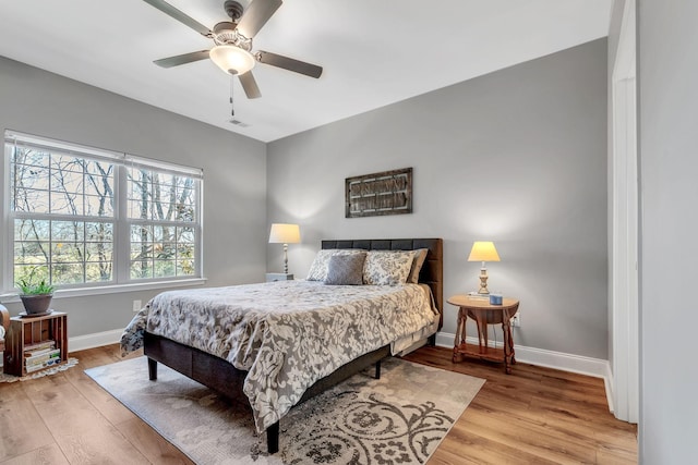
[[[456,334],[448,332],[436,333],[436,345],[440,347],[453,348]],[[478,338],[467,338],[468,344],[478,344]],[[492,346],[502,347],[503,343],[496,344],[490,341]],[[613,412],[613,386],[611,376],[611,364],[601,358],[583,357],[580,355],[565,354],[563,352],[546,351],[544,348],[526,347],[514,344],[516,360],[541,367],[554,368],[562,371],[576,372],[579,375],[602,378],[606,390],[609,409]]]

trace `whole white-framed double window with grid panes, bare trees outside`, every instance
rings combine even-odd
[[[201,277],[201,170],[5,132],[4,287]]]

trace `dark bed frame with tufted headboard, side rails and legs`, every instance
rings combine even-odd
[[[438,329],[442,328],[444,254],[441,238],[322,241],[322,248],[363,248],[368,250],[414,250],[428,248],[429,254],[422,266],[419,282],[425,283],[431,287],[440,313]],[[434,334],[430,336],[429,343],[434,345],[436,335]],[[147,331],[144,334],[144,353],[148,358],[148,377],[151,380],[157,379],[157,364],[159,362],[213,389],[225,397],[249,405],[248,397],[242,392],[242,384],[248,371],[237,369],[229,362]],[[321,394],[371,365],[375,365],[375,376],[380,378],[381,360],[389,355],[390,346],[388,344],[349,362],[335,372],[317,380],[305,391],[298,404]],[[266,433],[268,451],[274,454],[279,450],[278,421],[268,427]]]

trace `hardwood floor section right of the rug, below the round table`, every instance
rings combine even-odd
[[[430,464],[636,464],[637,427],[609,413],[603,380],[517,363],[450,362],[422,347],[406,358],[486,379]]]

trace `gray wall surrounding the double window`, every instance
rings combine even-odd
[[[203,168],[207,285],[264,279],[265,144],[0,57],[5,129]],[[125,327],[132,301],[158,292],[57,296],[53,307],[68,311],[70,336],[84,335]],[[22,309],[8,307],[13,315]]]

